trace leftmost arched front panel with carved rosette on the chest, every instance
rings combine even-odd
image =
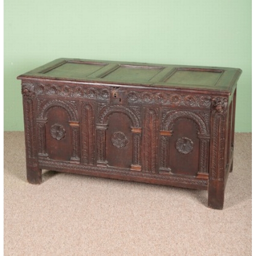
[[[37,99],[38,155],[54,160],[79,161],[80,129],[75,101]]]

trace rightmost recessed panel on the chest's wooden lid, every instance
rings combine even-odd
[[[222,70],[177,69],[164,82],[193,84],[198,86],[215,86],[222,73]]]

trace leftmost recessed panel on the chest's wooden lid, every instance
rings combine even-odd
[[[88,75],[101,69],[104,64],[66,62],[50,70],[43,71],[43,74],[53,77],[67,77],[85,79]]]

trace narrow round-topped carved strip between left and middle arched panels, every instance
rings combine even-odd
[[[82,162],[94,164],[94,112],[89,103],[82,105]]]

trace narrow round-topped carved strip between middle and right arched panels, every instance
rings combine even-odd
[[[157,113],[154,109],[145,111],[144,121],[144,168],[146,172],[157,172]]]

